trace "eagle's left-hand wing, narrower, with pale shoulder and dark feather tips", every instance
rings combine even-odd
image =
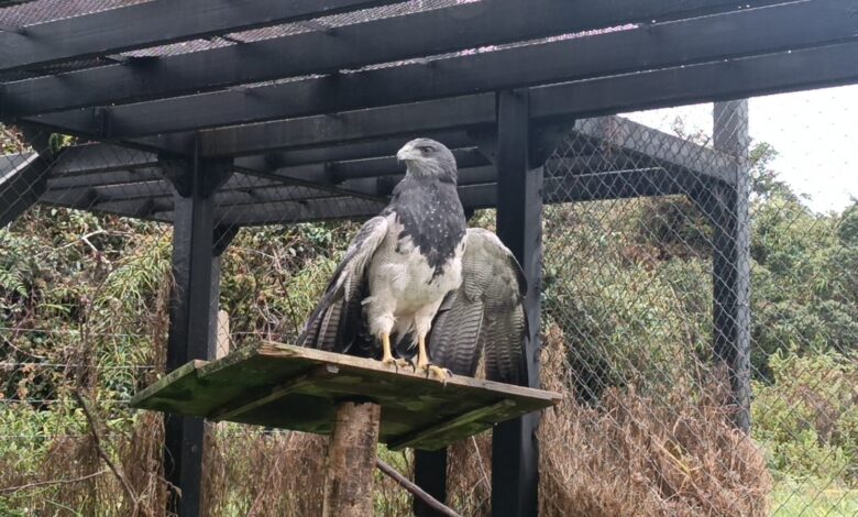
[[[387,219],[381,216],[361,227],[298,337],[299,346],[345,353],[363,339],[361,301],[367,288],[366,271],[386,234]]]

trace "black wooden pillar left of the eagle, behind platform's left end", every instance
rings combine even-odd
[[[169,162],[167,175],[176,187],[173,230],[173,275],[167,371],[195,359],[215,358],[220,252],[223,239],[215,224],[212,193],[231,172],[231,163]],[[167,416],[164,474],[178,488],[170,491],[168,512],[183,517],[200,515],[204,421]],[[180,495],[179,495],[180,494]]]

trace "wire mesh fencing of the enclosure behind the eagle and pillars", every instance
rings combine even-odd
[[[858,512],[858,209],[844,194],[858,128],[832,122],[858,97],[749,106],[749,142],[741,103],[715,110],[715,132],[706,105],[578,121],[546,162],[541,375],[564,399],[540,427],[543,515]],[[8,127],[0,143],[0,513],[125,515],[133,501],[160,515],[161,418],[128,402],[166,364],[186,239],[175,164]],[[400,144],[223,175],[217,355],[296,338],[402,174]],[[463,188],[491,185],[480,148],[455,147]],[[494,211],[471,224],[494,228]],[[210,514],[314,515],[322,448],[211,426]],[[450,458],[450,504],[487,515],[487,437]],[[394,485],[376,490],[378,515],[408,514]]]

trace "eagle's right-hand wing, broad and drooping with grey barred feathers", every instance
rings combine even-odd
[[[441,305],[429,354],[454,374],[473,376],[484,352],[487,378],[521,384],[527,380],[525,274],[494,233],[470,228],[466,239],[462,286]]]

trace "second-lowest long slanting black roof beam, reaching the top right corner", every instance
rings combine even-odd
[[[858,0],[796,2],[426,64],[110,107],[102,111],[108,123],[99,123],[90,109],[35,120],[124,139],[693,65],[854,41],[856,8]]]

